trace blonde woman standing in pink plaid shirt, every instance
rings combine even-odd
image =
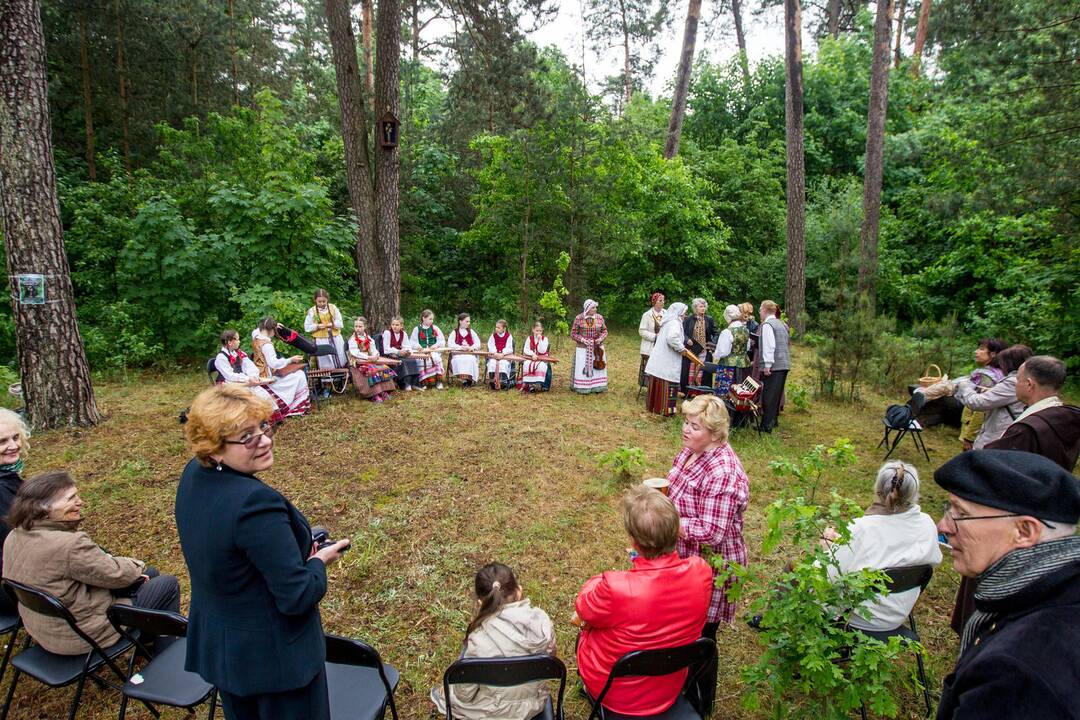
[[[699,395],[683,403],[683,449],[675,457],[667,480],[679,514],[679,557],[710,554],[746,565],[743,514],[750,499],[750,479],[734,449],[728,445],[728,409],[715,395]],[[735,604],[727,587],[714,587],[703,637],[716,639],[720,623],[731,624]],[[716,694],[716,667],[699,676],[699,697],[711,710]],[[707,711],[706,710],[706,711]]]

